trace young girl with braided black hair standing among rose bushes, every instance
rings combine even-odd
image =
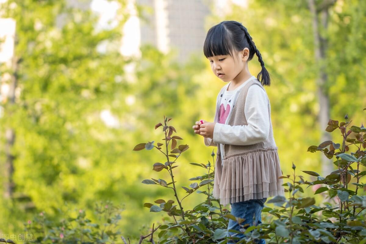
[[[245,219],[241,225],[257,225],[267,198],[284,195],[270,102],[263,87],[270,85],[269,73],[247,29],[236,21],[213,26],[203,52],[213,73],[227,83],[217,95],[214,122],[202,120],[193,126],[206,146],[217,146],[213,197],[223,205],[230,203],[231,214]],[[262,67],[257,78],[248,68],[254,54]],[[228,243],[245,236],[230,231],[240,228],[229,219]]]

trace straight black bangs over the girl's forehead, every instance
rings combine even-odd
[[[207,33],[203,44],[203,54],[208,57],[218,55],[230,55],[233,47],[228,36],[228,32],[223,25],[213,26]]]

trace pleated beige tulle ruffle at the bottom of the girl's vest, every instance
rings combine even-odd
[[[255,149],[245,154],[217,155],[213,198],[220,204],[284,195],[277,147]]]

